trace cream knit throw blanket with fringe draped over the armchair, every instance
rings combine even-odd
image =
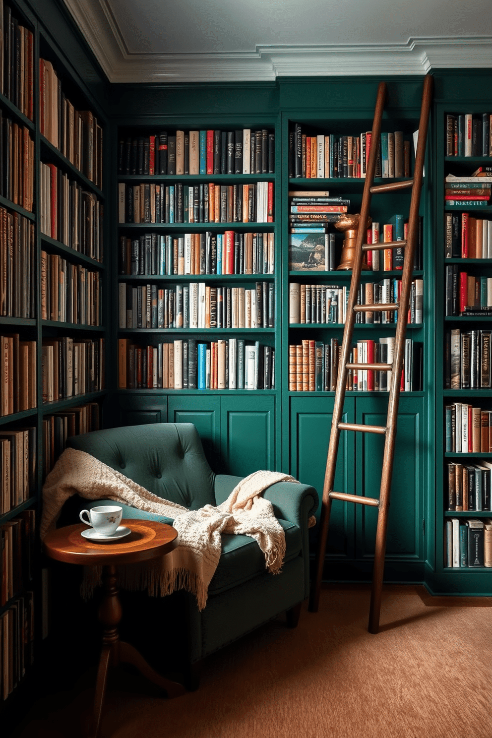
[[[285,534],[274,516],[269,500],[260,494],[276,482],[297,482],[282,472],[254,472],[240,481],[224,503],[188,510],[162,500],[133,480],[77,449],[66,449],[43,487],[41,540],[52,528],[63,504],[72,494],[88,500],[108,499],[156,513],[174,520],[178,531],[176,546],[162,559],[146,565],[119,568],[119,586],[148,589],[150,595],[164,596],[177,589],[195,594],[198,609],[207,602],[209,582],[221,556],[221,533],[235,533],[257,540],[265,554],[266,568],[280,573],[285,555]],[[83,592],[88,595],[100,583],[101,568],[86,572]]]

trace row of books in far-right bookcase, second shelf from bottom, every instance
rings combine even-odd
[[[451,511],[491,510],[492,462],[447,464],[447,509]]]

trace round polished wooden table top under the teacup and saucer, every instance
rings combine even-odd
[[[122,520],[121,525],[131,528],[131,534],[104,543],[83,538],[81,531],[90,527],[83,523],[57,528],[46,534],[44,551],[52,559],[68,564],[135,564],[167,554],[178,536],[178,531],[171,525],[153,520]]]

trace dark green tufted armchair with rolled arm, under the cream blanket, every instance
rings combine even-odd
[[[198,432],[190,423],[98,430],[69,438],[69,446],[89,453],[153,494],[193,510],[220,504],[241,478],[212,472]],[[180,599],[186,610],[188,666],[197,665],[204,656],[280,613],[287,613],[288,624],[297,625],[301,603],[308,597],[308,517],[317,508],[318,495],[311,486],[280,482],[269,487],[264,496],[271,500],[285,531],[282,573],[268,573],[254,539],[222,534],[221,559],[209,584],[207,606],[199,612],[193,596]],[[76,504],[82,509],[88,507],[88,500],[79,498]],[[100,504],[105,500],[93,501],[89,507]],[[73,507],[72,503],[72,514]],[[173,523],[129,506],[123,506],[123,517]],[[192,668],[190,673],[193,671],[197,670]]]

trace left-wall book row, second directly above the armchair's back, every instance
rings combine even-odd
[[[104,389],[104,339],[43,339],[43,402]]]

